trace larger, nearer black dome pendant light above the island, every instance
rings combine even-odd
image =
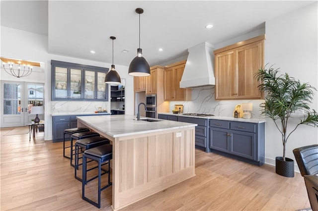
[[[137,56],[130,62],[128,74],[132,76],[148,76],[150,75],[150,67],[143,57],[143,50],[140,48],[140,14],[144,13],[144,10],[137,8],[136,13],[139,14],[139,49],[137,49]]]

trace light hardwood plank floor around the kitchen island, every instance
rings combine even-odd
[[[43,132],[3,136],[0,129],[1,211],[98,210],[81,199],[63,143],[45,141]],[[196,150],[196,176],[132,204],[126,211],[295,211],[310,207],[303,177],[286,178],[261,167]],[[90,188],[92,188],[91,186]],[[100,210],[111,210],[112,190],[102,191]]]

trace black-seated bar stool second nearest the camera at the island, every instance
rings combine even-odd
[[[98,146],[105,145],[105,144],[109,144],[109,143],[110,142],[107,138],[100,137],[100,136],[80,139],[80,140],[76,141],[76,143],[75,143],[75,166],[74,166],[75,173],[74,173],[74,175],[75,175],[75,178],[77,180],[82,181],[82,179],[77,176],[77,170],[79,169],[79,165],[81,165],[81,163],[79,163],[79,159],[80,159],[79,154],[81,154],[79,152],[79,148],[81,148],[81,152],[83,152],[83,149],[89,150],[91,148],[98,147]],[[97,166],[92,167],[92,168],[88,169],[87,171],[92,170],[94,168],[97,168]]]

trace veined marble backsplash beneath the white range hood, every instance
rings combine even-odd
[[[183,113],[208,113],[216,116],[233,116],[234,108],[241,103],[252,103],[252,118],[264,118],[260,115],[259,105],[264,100],[232,100],[232,101],[216,101],[215,87],[199,87],[192,88],[192,100],[181,102],[170,102],[170,112],[174,109],[175,104],[183,105]]]

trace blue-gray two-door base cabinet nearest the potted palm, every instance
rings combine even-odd
[[[210,119],[210,149],[255,165],[264,164],[265,123]]]

